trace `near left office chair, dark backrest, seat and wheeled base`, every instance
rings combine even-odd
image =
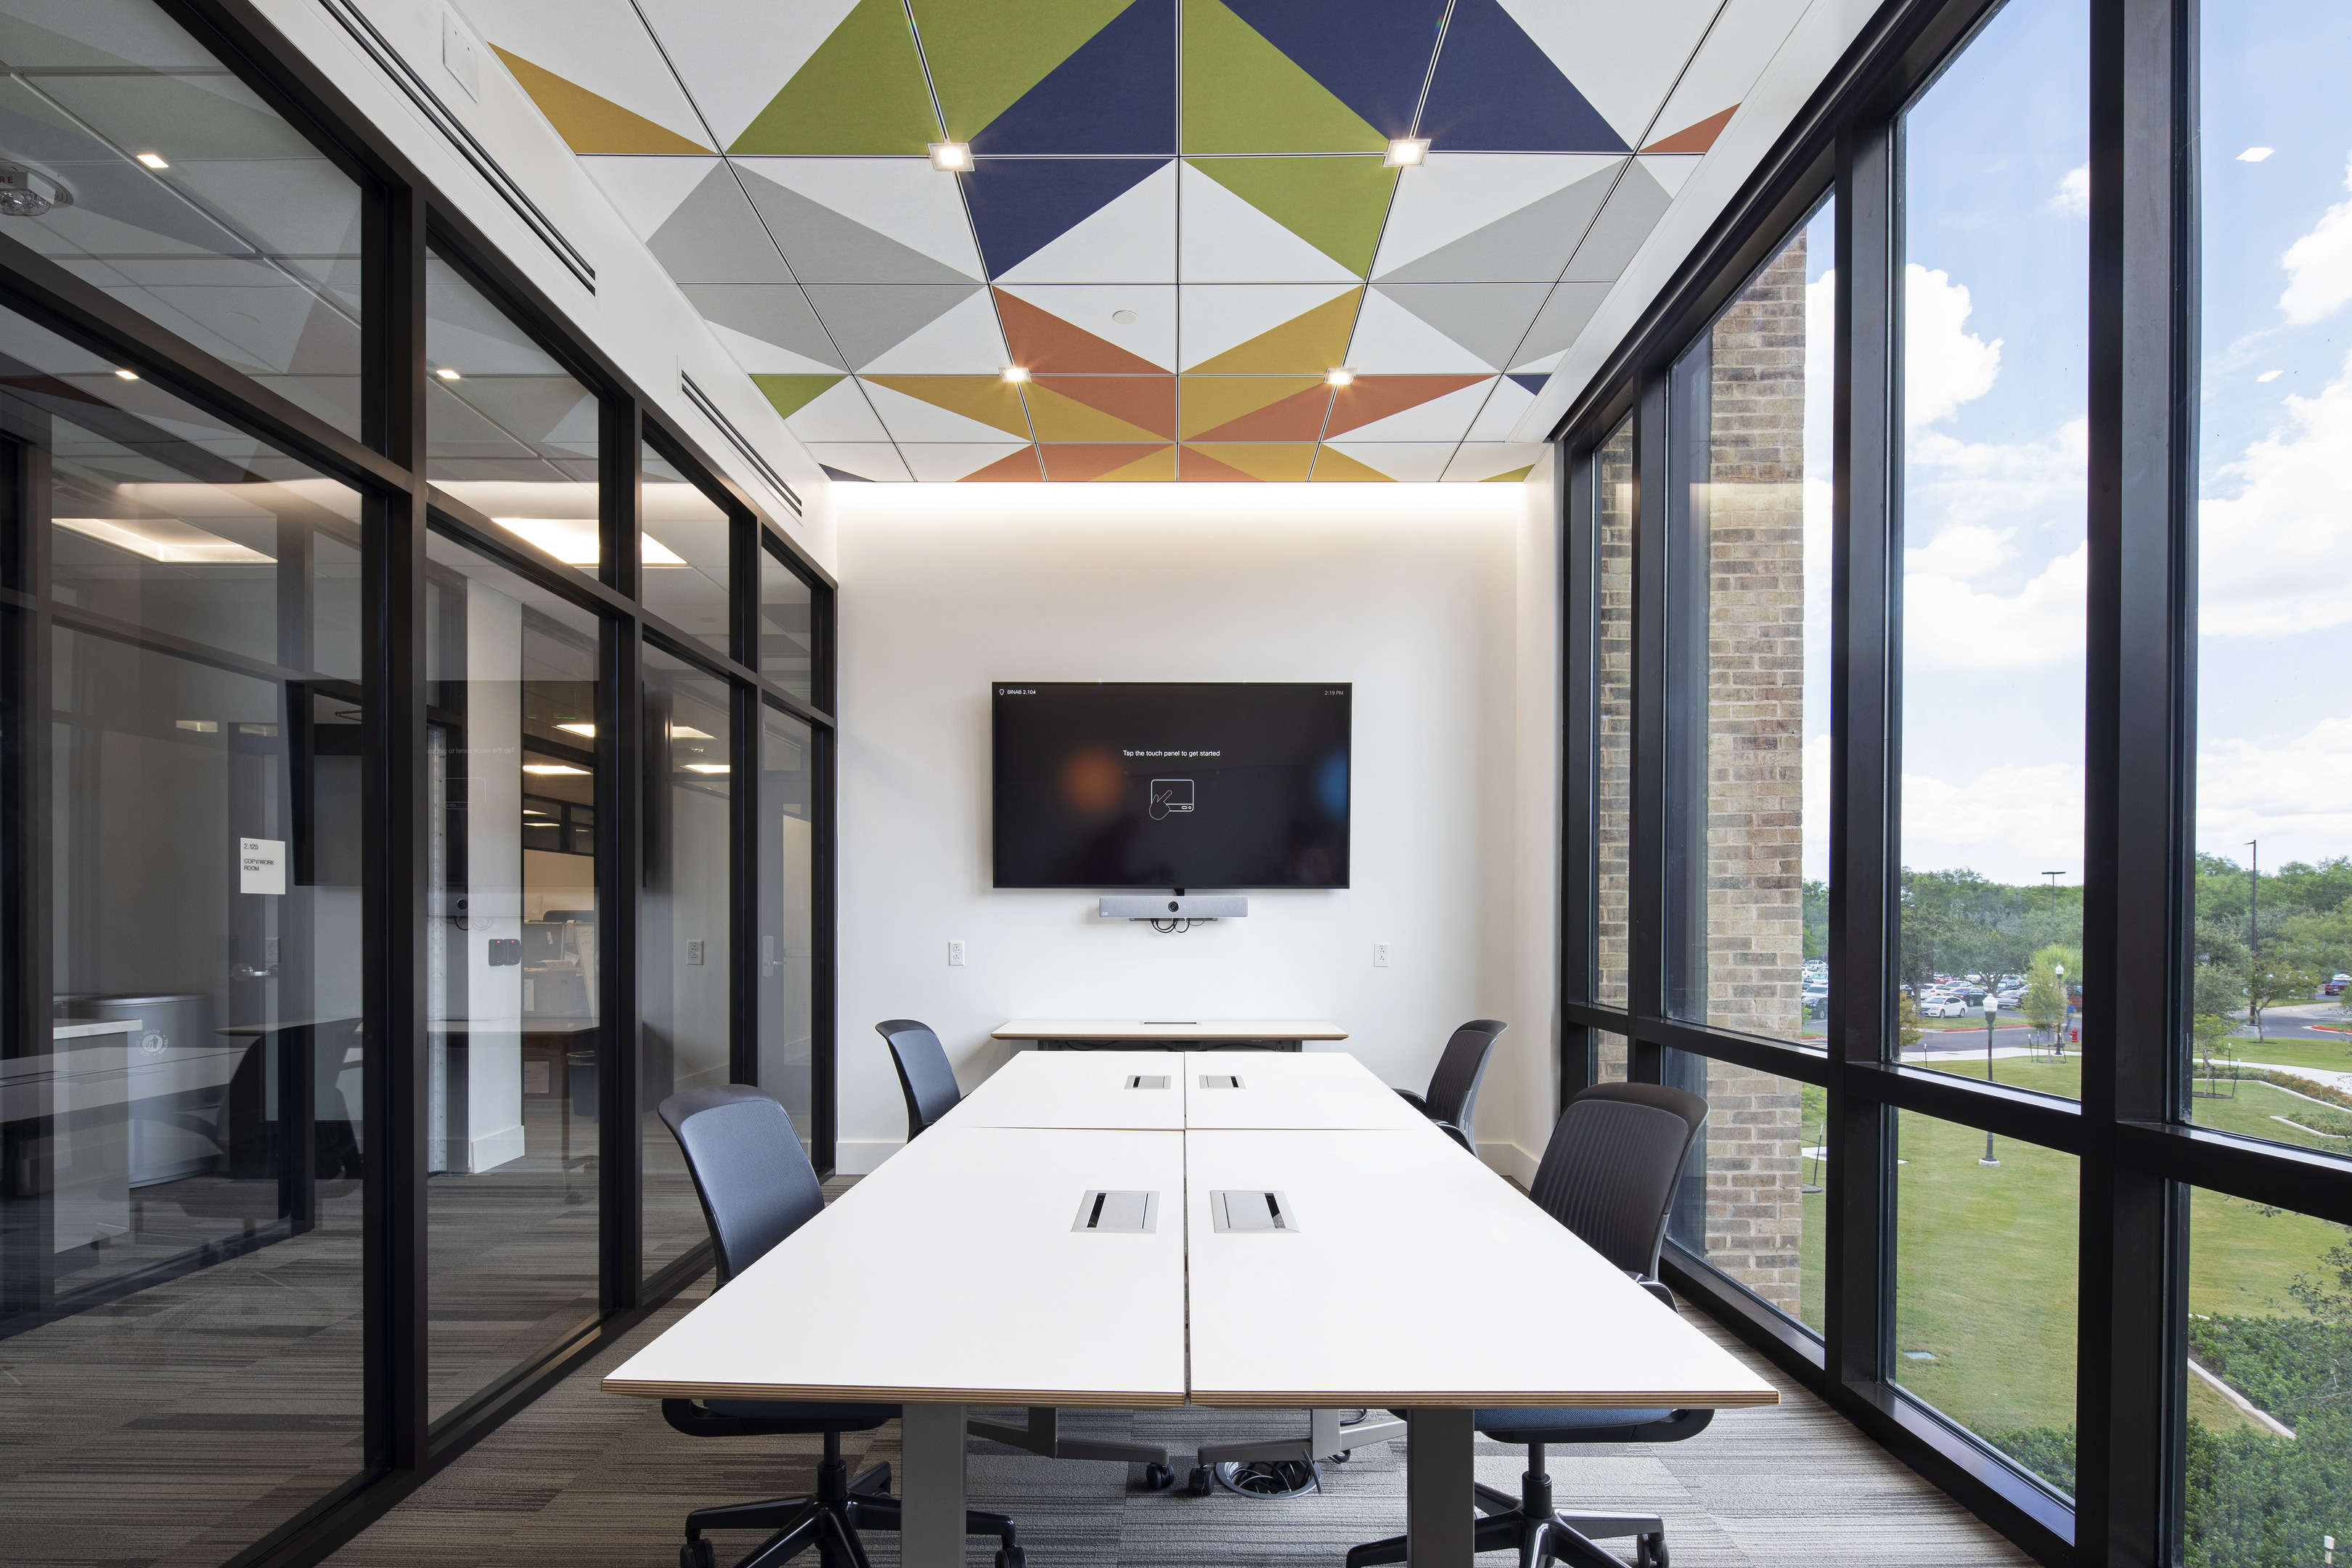
[[[677,1138],[703,1201],[710,1248],[717,1253],[720,1288],[767,1255],[771,1246],[807,1225],[823,1206],[816,1171],[800,1150],[793,1117],[760,1088],[724,1084],[689,1088],[661,1103],[661,1119]],[[840,1281],[847,1284],[847,1281]],[[858,1528],[896,1530],[898,1500],[889,1495],[889,1465],[856,1479],[842,1462],[842,1432],[870,1432],[898,1418],[898,1406],[823,1403],[790,1399],[663,1399],[661,1418],[687,1436],[781,1436],[821,1432],[826,1458],[816,1467],[816,1495],[771,1497],[694,1509],[677,1568],[715,1568],[717,1556],[703,1530],[771,1530],[736,1568],[769,1568],[807,1547],[826,1563],[863,1563]],[[969,1535],[995,1535],[997,1568],[1023,1568],[1014,1544],[1014,1521],[1004,1514],[964,1514]]]

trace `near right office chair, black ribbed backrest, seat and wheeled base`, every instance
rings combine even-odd
[[[1595,1084],[1562,1112],[1529,1197],[1672,1307],[1672,1293],[1658,1284],[1658,1248],[1665,1244],[1675,1180],[1705,1119],[1708,1103],[1684,1088]],[[1552,1509],[1543,1448],[1679,1443],[1705,1432],[1715,1410],[1477,1410],[1472,1420],[1479,1434],[1498,1443],[1526,1443],[1526,1474],[1519,1476],[1517,1497],[1494,1486],[1477,1488],[1477,1505],[1486,1514],[1475,1526],[1472,1552],[1515,1549],[1522,1568],[1616,1568],[1616,1559],[1595,1540],[1632,1535],[1635,1568],[1668,1568],[1665,1521],[1656,1514]],[[1348,1554],[1348,1568],[1402,1561],[1402,1535]]]

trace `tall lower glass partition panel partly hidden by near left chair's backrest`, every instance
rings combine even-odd
[[[644,1272],[699,1244],[694,1178],[661,1103],[734,1074],[734,719],[727,684],[644,649],[644,891],[637,896],[637,1103],[644,1140]]]

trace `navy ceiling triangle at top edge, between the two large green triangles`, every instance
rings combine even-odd
[[[1136,0],[971,139],[988,153],[1176,153],[1176,0]]]

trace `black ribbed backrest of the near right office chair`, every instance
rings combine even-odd
[[[1675,1178],[1708,1103],[1665,1084],[1595,1084],[1569,1100],[1529,1197],[1602,1258],[1658,1276]]]

